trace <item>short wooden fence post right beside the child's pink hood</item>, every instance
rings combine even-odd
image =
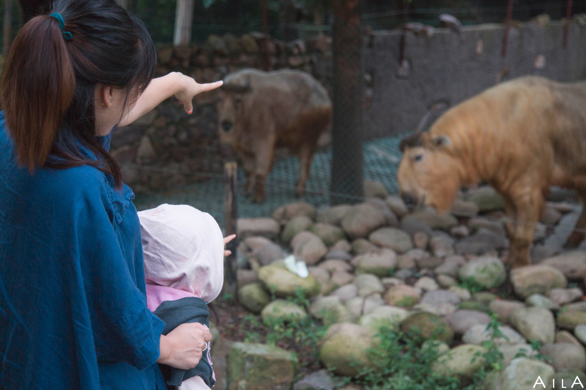
[[[226,174],[226,190],[224,193],[224,204],[226,208],[226,236],[236,234],[236,222],[238,220],[237,209],[237,189],[238,189],[238,165],[236,163],[226,163],[224,165],[224,172]],[[227,249],[232,251],[232,254],[224,259],[224,292],[229,293],[238,298],[238,282],[236,279],[236,239],[230,241]]]

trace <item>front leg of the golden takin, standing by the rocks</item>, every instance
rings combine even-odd
[[[539,189],[526,186],[521,191],[509,195],[516,210],[516,219],[510,234],[509,259],[513,268],[531,264],[530,250],[533,243],[535,225],[543,210],[544,199]]]

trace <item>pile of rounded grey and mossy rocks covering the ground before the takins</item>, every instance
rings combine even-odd
[[[531,375],[538,371],[546,384],[573,375],[568,372],[584,377],[586,302],[579,286],[585,252],[549,257],[507,275],[502,259],[508,241],[495,192],[482,188],[459,199],[454,215],[410,213],[397,196],[382,195],[384,200],[319,210],[292,203],[271,218],[240,220],[239,250],[250,265],[239,271],[247,275],[240,278],[241,304],[263,319],[304,316],[303,308],[282,301],[303,292],[311,299],[309,315],[332,324],[319,358],[338,375],[356,375],[360,365],[369,365],[374,334],[389,325],[442,341],[444,353],[432,369],[471,378],[484,364],[478,357],[494,313],[502,336],[493,341],[505,366],[489,375],[487,389],[533,386],[537,375]],[[547,208],[557,211],[556,218],[571,210],[562,203]],[[544,232],[536,245],[555,234]],[[287,270],[287,253],[305,261],[309,277]],[[280,299],[270,303],[270,292]],[[536,354],[551,360],[535,360]]]

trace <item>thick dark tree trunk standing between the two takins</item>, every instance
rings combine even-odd
[[[333,0],[332,205],[362,197],[363,75],[360,0]]]

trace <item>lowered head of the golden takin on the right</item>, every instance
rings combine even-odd
[[[462,160],[449,136],[434,133],[417,132],[401,141],[397,181],[408,206],[432,206],[442,212],[451,209],[461,188]]]

